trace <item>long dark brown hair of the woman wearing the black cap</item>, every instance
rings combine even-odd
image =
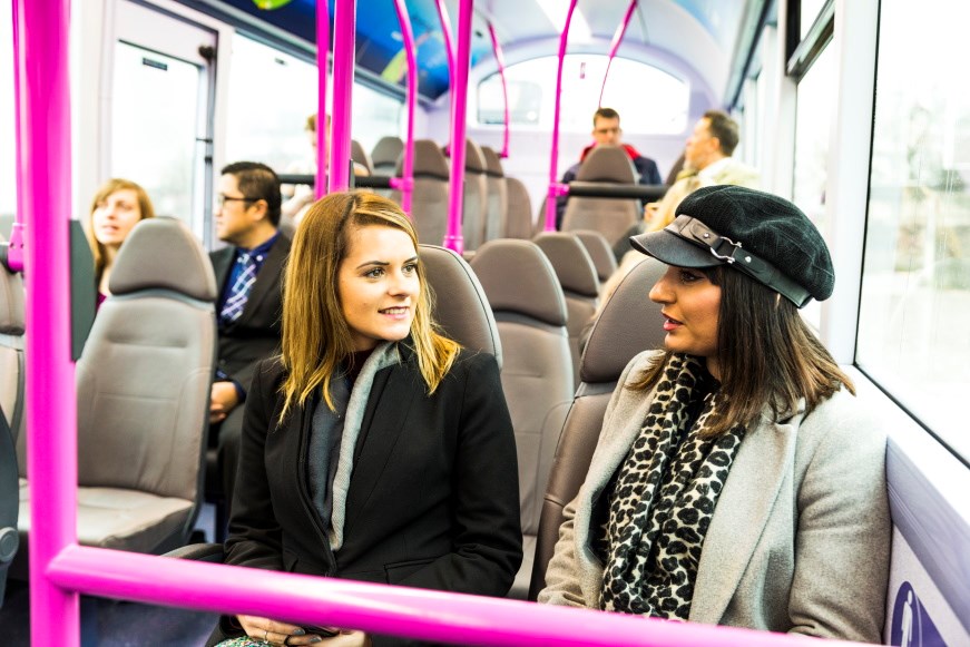
[[[716,360],[723,406],[712,420],[711,435],[749,425],[765,405],[777,420],[795,412],[801,398],[812,411],[842,386],[855,394],[792,302],[735,269],[718,266],[704,273],[721,286]],[[669,355],[658,355],[628,388],[653,389]]]

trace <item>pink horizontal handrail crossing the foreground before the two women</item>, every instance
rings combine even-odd
[[[461,645],[817,647],[816,638],[670,623],[336,578],[70,547],[51,580],[85,594]],[[136,575],[137,574],[137,575]],[[826,641],[846,647],[852,643]]]

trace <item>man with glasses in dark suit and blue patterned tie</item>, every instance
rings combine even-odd
[[[280,179],[255,161],[226,166],[214,212],[226,247],[209,257],[219,286],[219,356],[212,388],[209,442],[217,439],[219,471],[232,501],[243,429],[242,404],[256,363],[280,345],[283,266],[290,238],[281,234]]]

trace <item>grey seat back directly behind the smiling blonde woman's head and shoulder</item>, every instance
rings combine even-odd
[[[469,264],[451,249],[435,245],[420,245],[418,253],[435,295],[434,321],[466,349],[494,355],[501,367],[502,343],[496,317]]]

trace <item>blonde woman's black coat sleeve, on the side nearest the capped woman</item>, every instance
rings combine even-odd
[[[519,470],[512,420],[496,359],[462,359],[463,396],[452,483],[453,550],[400,584],[504,596],[522,562]]]

